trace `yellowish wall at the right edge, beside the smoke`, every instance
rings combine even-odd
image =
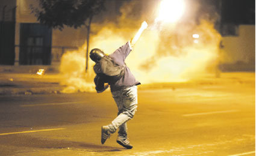
[[[240,25],[237,36],[223,37],[220,70],[255,71],[255,25]]]

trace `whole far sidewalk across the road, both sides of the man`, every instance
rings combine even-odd
[[[46,73],[37,75],[43,68]],[[57,66],[28,65],[1,66],[0,65],[0,95],[33,95],[33,94],[61,94],[66,86],[61,86],[61,75]],[[152,83],[143,84],[139,89],[175,89],[193,88],[198,86],[232,86],[248,85],[255,87],[255,73],[222,73],[220,78],[213,74],[183,83]]]

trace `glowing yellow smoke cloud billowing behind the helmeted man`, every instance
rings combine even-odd
[[[133,6],[134,4],[130,7]],[[123,8],[121,10],[124,11]],[[131,9],[128,11],[131,12]],[[110,54],[134,37],[143,19],[129,19],[130,12],[122,13],[118,24],[93,24],[92,29],[100,29],[91,36],[90,49],[97,47]],[[152,23],[149,24],[151,26],[143,32],[125,60],[142,84],[185,82],[214,71],[220,35],[214,29],[213,22],[202,19],[199,23],[191,22],[186,25],[158,23],[153,27]],[[193,38],[193,34],[198,34],[199,38]],[[85,45],[86,43],[77,51],[65,53],[61,59],[60,71],[66,77],[61,84],[67,86],[63,92],[95,91],[94,62],[89,61],[89,71],[84,72]]]

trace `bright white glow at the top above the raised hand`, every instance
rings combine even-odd
[[[157,21],[176,22],[183,15],[185,5],[183,0],[163,0],[160,3]]]

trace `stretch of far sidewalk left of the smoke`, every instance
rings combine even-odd
[[[43,68],[46,73],[39,76]],[[46,65],[0,66],[0,95],[58,94],[64,86],[60,85],[58,69]]]

